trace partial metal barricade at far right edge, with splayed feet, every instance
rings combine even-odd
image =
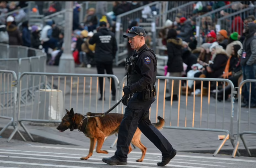
[[[243,87],[244,86],[244,87]],[[243,89],[249,90],[249,95],[242,94]],[[251,105],[256,104],[256,80],[244,80],[241,82],[239,88],[238,88],[238,139],[236,142],[236,147],[233,150],[232,157],[234,158],[236,156],[236,152],[238,152],[238,146],[240,144],[240,139],[242,140],[244,147],[246,149],[246,152],[248,156],[252,156],[250,153],[250,150],[247,146],[247,143],[244,139],[244,134],[248,135],[256,135],[256,113],[253,108],[251,108]],[[248,99],[248,107],[242,108],[242,96],[244,96],[244,99]],[[251,101],[252,100],[252,101]],[[251,136],[248,136],[251,137]],[[255,142],[255,138],[251,139],[251,144]],[[248,142],[248,141],[247,141]]]

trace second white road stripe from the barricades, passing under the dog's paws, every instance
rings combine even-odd
[[[65,154],[65,153],[58,153],[58,152],[37,152],[37,151],[24,151],[24,150],[7,150],[7,149],[0,149],[0,151],[28,152],[28,153],[46,153],[46,154]],[[66,154],[66,155],[81,156],[83,154]],[[103,157],[103,156],[92,155],[91,157]],[[111,156],[105,155],[104,157],[111,157]],[[133,157],[135,157],[135,156],[133,156]],[[138,157],[140,157],[140,156],[138,156]],[[149,157],[145,157],[145,158],[149,158]],[[128,159],[137,160],[138,158],[128,158]],[[152,159],[144,159],[144,160],[160,161],[160,160],[152,160]],[[190,162],[209,162],[209,163],[219,163],[219,164],[239,164],[239,163],[225,163],[225,162],[210,162],[210,161],[202,161],[202,160],[186,160],[186,159],[176,159],[176,158],[173,158],[172,160],[183,160],[183,161],[190,161]]]

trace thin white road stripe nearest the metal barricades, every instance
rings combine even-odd
[[[66,147],[55,147],[55,146],[36,146],[31,145],[31,147],[38,147],[38,148],[52,148],[52,149],[68,149],[68,150],[89,150],[84,148],[66,148]],[[116,152],[115,150],[107,150],[108,152]],[[141,154],[141,152],[130,152],[134,154]],[[150,153],[146,152],[146,155],[159,155],[162,156],[160,153]],[[218,158],[218,157],[208,157],[208,156],[190,156],[190,155],[179,155],[176,154],[175,157],[184,157],[184,158],[198,158],[198,159],[212,159],[212,160],[228,160],[228,161],[237,161],[237,162],[252,162],[256,163],[256,160],[246,160],[246,159],[235,159],[235,158]]]

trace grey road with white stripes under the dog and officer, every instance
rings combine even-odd
[[[1,142],[0,138],[0,142]],[[3,139],[2,139],[3,140]],[[108,154],[94,154],[88,160],[80,160],[88,154],[88,148],[65,145],[46,145],[40,143],[18,142],[12,146],[1,145],[0,168],[153,168],[161,161],[160,152],[147,152],[143,162],[136,162],[141,156],[138,149],[128,155],[126,166],[109,166],[102,158],[113,156],[115,150],[107,150]],[[166,165],[171,168],[255,168],[256,158],[230,158],[228,156],[213,157],[210,154],[194,154],[178,152]]]

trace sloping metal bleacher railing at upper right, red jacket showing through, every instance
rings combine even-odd
[[[242,35],[242,31],[244,29],[243,20],[245,20],[249,15],[256,16],[255,8],[255,6],[248,7],[232,14],[228,14],[222,18],[218,18],[216,27],[220,27],[220,29],[226,30],[228,34],[231,34],[232,32],[238,32],[239,35]]]

